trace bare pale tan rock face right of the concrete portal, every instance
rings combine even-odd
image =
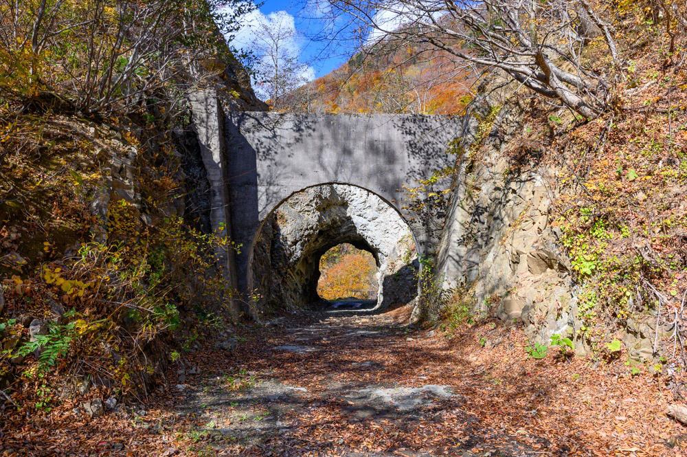
[[[438,274],[444,287],[474,293],[480,313],[522,320],[530,336],[548,342],[552,333],[574,333],[575,289],[551,225],[556,169],[537,157],[513,167],[507,152],[518,129],[519,107],[502,109],[479,153],[460,164]]]

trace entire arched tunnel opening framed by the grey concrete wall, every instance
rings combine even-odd
[[[291,194],[263,219],[248,287],[258,316],[330,309],[337,300],[369,300],[360,309],[380,312],[412,302],[418,269],[414,236],[396,208],[369,190],[330,183]]]

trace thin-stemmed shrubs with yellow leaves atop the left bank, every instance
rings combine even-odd
[[[232,58],[218,32],[236,31],[252,8],[243,0],[0,0],[0,98],[93,117],[131,114],[146,98],[181,100],[203,62]]]

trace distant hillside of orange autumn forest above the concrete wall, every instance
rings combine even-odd
[[[458,114],[471,102],[475,75],[446,53],[382,42],[341,68],[284,96],[291,111]]]

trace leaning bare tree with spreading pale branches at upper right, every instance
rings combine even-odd
[[[455,57],[456,65],[499,69],[587,119],[609,105],[612,68],[594,71],[581,58],[581,14],[602,31],[614,63],[618,46],[587,0],[327,1],[333,19],[340,23],[345,16],[346,26],[367,32],[364,44],[370,49],[392,43],[427,45]]]

